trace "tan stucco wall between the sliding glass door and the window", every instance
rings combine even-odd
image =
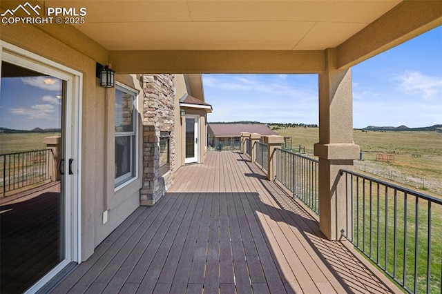
[[[30,25],[1,25],[1,40],[83,74],[79,180],[81,259],[86,260],[93,254],[95,247],[139,206],[138,190],[141,184],[135,181],[117,193],[114,192],[115,89],[100,88],[97,84],[96,61],[90,57],[91,40],[82,34],[75,35],[75,48],[85,48],[85,52],[81,52],[52,37],[60,35],[59,30],[59,26],[45,26],[44,30],[40,30]],[[96,43],[92,46],[97,48]],[[98,51],[100,59],[105,59],[107,51],[104,48]],[[135,86],[130,77],[118,79],[131,88]],[[102,224],[102,215],[106,209],[108,222]]]

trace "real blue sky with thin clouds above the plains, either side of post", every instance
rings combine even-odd
[[[442,124],[442,27],[352,68],[354,128]],[[203,75],[210,121],[318,124],[317,75]]]

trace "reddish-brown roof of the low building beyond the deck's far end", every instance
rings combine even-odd
[[[265,124],[209,124],[209,128],[215,137],[236,137],[241,132],[278,135]]]

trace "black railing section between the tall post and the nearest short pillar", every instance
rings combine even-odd
[[[318,160],[277,148],[276,179],[319,214]]]

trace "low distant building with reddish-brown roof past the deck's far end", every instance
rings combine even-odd
[[[209,146],[215,150],[239,150],[241,132],[278,135],[265,124],[209,124]]]

